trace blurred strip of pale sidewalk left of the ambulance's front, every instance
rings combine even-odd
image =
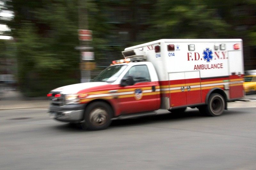
[[[0,93],[0,110],[49,107],[46,97],[24,98],[19,91],[8,90]]]

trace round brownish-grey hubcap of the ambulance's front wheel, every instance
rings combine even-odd
[[[108,113],[103,108],[96,108],[90,113],[90,122],[99,126],[107,122]]]

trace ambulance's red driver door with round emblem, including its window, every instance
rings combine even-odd
[[[147,65],[136,65],[126,73],[131,75],[134,85],[121,87],[125,95],[119,97],[121,114],[139,113],[157,110],[160,105],[160,94],[156,92],[158,82],[151,82]]]

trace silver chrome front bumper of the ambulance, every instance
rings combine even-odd
[[[84,119],[86,104],[73,104],[65,106],[50,105],[49,116],[61,122],[79,123]]]

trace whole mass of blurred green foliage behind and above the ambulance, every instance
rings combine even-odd
[[[1,1],[5,3],[1,9],[9,9],[15,14],[13,20],[0,19],[0,23],[7,23],[12,29],[16,47],[8,50],[8,54],[4,52],[3,56],[16,54],[20,88],[27,96],[44,96],[53,88],[79,82],[80,52],[74,50],[79,45],[79,28],[93,32],[93,41],[86,45],[94,47],[96,63],[120,58],[123,46],[106,46],[115,43],[110,42],[113,40],[108,39],[108,35],[118,29],[129,32],[129,45],[162,38],[242,38],[244,45],[256,44],[255,26],[246,31],[236,29],[248,23],[245,21],[250,19],[250,12],[234,15],[243,5],[248,7],[246,11],[255,12],[255,0]],[[106,11],[113,7],[130,11],[120,28],[108,22]],[[143,18],[143,21],[148,20],[146,24],[140,23],[141,11],[147,14],[146,19]],[[84,17],[85,12],[89,17]],[[88,22],[87,27],[85,22]],[[0,49],[5,49],[2,43]],[[106,55],[113,52],[120,55]]]

